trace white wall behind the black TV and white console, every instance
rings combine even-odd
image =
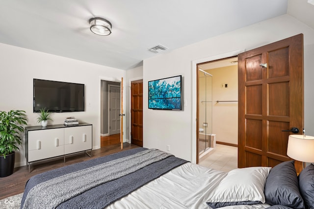
[[[36,123],[37,114],[33,113],[33,78],[85,84],[85,112],[52,113],[53,121],[48,124],[62,124],[67,116],[92,123],[93,149],[97,149],[100,148],[100,78],[121,81],[125,76],[125,70],[0,44],[0,110],[25,110],[28,126],[40,125]],[[24,149],[23,143],[16,155],[16,167],[26,165]]]

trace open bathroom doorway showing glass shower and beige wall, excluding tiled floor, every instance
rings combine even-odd
[[[237,57],[197,65],[198,162],[216,143],[237,147],[237,92]]]

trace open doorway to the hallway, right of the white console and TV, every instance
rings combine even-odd
[[[120,143],[120,84],[101,80],[101,147]]]

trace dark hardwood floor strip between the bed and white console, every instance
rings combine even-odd
[[[123,150],[133,149],[139,147],[130,143],[123,143]],[[68,155],[63,163],[63,157],[30,165],[30,173],[28,173],[28,166],[14,168],[14,173],[10,176],[0,178],[0,200],[12,195],[24,192],[27,180],[38,174],[55,168],[66,165],[88,161],[93,158],[99,158],[112,153],[120,152],[121,146],[119,144],[108,145],[100,149],[93,150],[92,158],[84,152]]]

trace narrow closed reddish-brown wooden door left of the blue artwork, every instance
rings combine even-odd
[[[143,80],[131,82],[131,143],[143,146]]]

